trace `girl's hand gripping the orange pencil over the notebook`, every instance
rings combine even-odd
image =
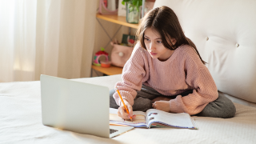
[[[127,102],[125,99],[123,100],[123,102],[125,102],[126,104],[126,108],[129,110],[129,114],[127,114],[126,112],[126,108],[125,106],[123,106],[123,104],[121,106],[119,106],[118,108],[118,116],[121,117],[122,119],[126,119],[129,120],[130,116],[132,116],[132,118],[136,118],[136,115],[133,115],[133,107],[130,106],[130,103]]]

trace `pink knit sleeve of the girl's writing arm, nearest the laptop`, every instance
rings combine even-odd
[[[126,99],[131,106],[134,105],[134,98],[137,95],[137,91],[142,89],[142,82],[145,82],[145,59],[143,57],[143,49],[138,44],[134,46],[133,53],[129,60],[126,62],[122,70],[122,82],[117,82],[117,86],[123,99]],[[121,99],[118,93],[113,94],[115,102],[118,106],[121,105]]]

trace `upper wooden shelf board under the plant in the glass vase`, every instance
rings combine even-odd
[[[126,17],[122,17],[122,16],[118,16],[118,15],[102,15],[102,14],[97,14],[96,17],[104,19],[109,22],[117,23],[122,26],[128,26],[128,27],[132,27],[134,29],[138,28],[138,24],[127,23]]]

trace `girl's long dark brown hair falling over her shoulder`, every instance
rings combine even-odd
[[[198,53],[197,47],[190,38],[186,38],[183,33],[182,26],[178,22],[178,17],[170,7],[161,6],[150,10],[144,18],[142,18],[138,25],[138,30],[136,32],[137,42],[146,49],[144,43],[144,32],[147,28],[153,28],[157,30],[161,35],[162,44],[167,49],[176,50],[178,46],[183,44],[190,45],[194,48],[195,52],[198,54],[203,64],[206,64]],[[168,41],[167,41],[167,39]],[[170,38],[175,38],[176,42],[174,45],[171,44]]]

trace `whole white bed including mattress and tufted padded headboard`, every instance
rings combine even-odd
[[[218,90],[236,107],[234,118],[194,117],[199,130],[135,128],[99,138],[42,125],[40,82],[0,83],[0,143],[256,143],[256,1],[157,0],[170,6],[198,46]],[[121,75],[78,78],[114,88]],[[232,96],[231,96],[232,95]]]

